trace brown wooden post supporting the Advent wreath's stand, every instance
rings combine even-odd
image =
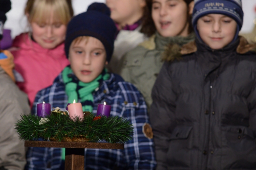
[[[84,149],[66,148],[65,170],[84,170]]]

